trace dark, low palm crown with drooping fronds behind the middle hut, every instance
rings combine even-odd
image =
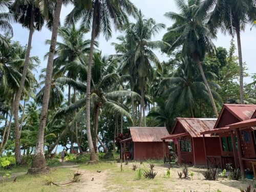
[[[206,73],[208,79],[214,79],[215,76],[210,72]],[[217,83],[213,81],[208,83],[211,88],[220,89]],[[209,94],[198,69],[184,59],[173,76],[163,78],[159,87],[158,91],[162,92],[162,96],[167,96],[166,109],[170,111],[178,109],[181,112],[189,109],[192,118],[195,117],[194,107],[197,100],[202,99],[206,103],[209,102]],[[211,93],[216,100],[221,101],[214,89],[211,89]]]

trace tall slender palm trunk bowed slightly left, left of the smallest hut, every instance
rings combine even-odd
[[[97,17],[97,6],[98,0],[94,3],[94,13],[93,13],[93,24],[92,24],[92,36],[91,36],[91,47],[90,47],[90,55],[89,55],[89,62],[88,62],[88,70],[87,70],[87,87],[86,87],[86,133],[87,133],[87,140],[90,152],[90,160],[97,161],[98,158],[94,151],[92,134],[91,134],[91,124],[90,124],[90,95],[91,95],[91,71],[92,71],[92,61],[93,61],[93,50],[94,50],[94,41],[96,36],[96,17]]]

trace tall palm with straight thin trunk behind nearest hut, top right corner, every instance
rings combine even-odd
[[[247,23],[253,23],[256,18],[254,0],[205,0],[201,3],[198,15],[209,13],[209,22],[212,31],[221,29],[232,37],[236,34],[238,41],[239,74],[240,74],[240,103],[244,103],[243,91],[243,59],[241,47],[241,31]]]

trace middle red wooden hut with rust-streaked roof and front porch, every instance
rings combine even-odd
[[[205,165],[204,140],[200,132],[214,129],[217,119],[177,118],[172,134],[162,138],[173,139],[174,153],[178,155],[179,164]],[[219,138],[205,135],[205,142],[210,155],[220,155]],[[165,147],[164,147],[165,149]]]

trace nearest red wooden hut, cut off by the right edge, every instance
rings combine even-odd
[[[214,134],[219,136],[219,145],[221,146],[219,158],[222,168],[227,163],[232,163],[232,166],[236,168],[241,167],[240,161],[243,160],[245,162],[242,164],[245,168],[251,167],[250,159],[256,158],[255,127],[239,128],[237,126],[241,125],[239,123],[241,121],[247,122],[250,118],[254,118],[256,116],[255,110],[256,105],[251,104],[224,104],[214,129],[201,133],[202,135]],[[237,123],[238,125],[236,125]],[[244,168],[241,167],[242,172],[243,170]]]

